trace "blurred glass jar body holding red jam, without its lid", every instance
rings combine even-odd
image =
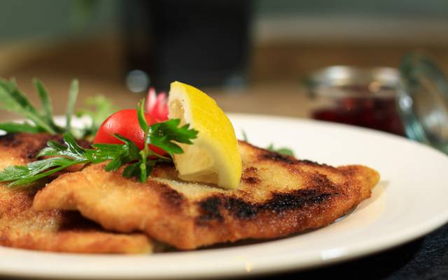
[[[312,118],[405,136],[396,99],[398,74],[393,76],[393,70],[333,66],[318,72],[325,79],[309,87]]]

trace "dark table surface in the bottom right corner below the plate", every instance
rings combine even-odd
[[[262,279],[448,279],[448,225],[396,248],[357,260]]]

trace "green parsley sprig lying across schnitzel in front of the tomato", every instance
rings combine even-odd
[[[183,153],[178,143],[193,144],[197,130],[189,125],[179,126],[179,119],[167,120],[163,123],[148,125],[144,118],[144,101],[137,106],[139,124],[145,132],[146,144],[152,144],[165,150],[170,156]],[[76,143],[70,132],[63,134],[64,144],[48,141],[47,147],[38,153],[38,157],[50,157],[26,166],[6,167],[0,172],[0,181],[10,182],[8,186],[31,186],[32,183],[59,172],[67,167],[78,164],[96,164],[110,161],[104,169],[117,171],[123,169],[123,176],[136,177],[145,182],[157,162],[169,162],[172,158],[151,151],[148,145],[139,150],[134,142],[118,134],[115,135],[123,144],[94,144],[93,148],[85,149]]]

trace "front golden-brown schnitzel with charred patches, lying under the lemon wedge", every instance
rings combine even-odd
[[[78,210],[108,230],[145,232],[179,249],[239,239],[283,237],[320,228],[370,197],[379,174],[361,165],[330,167],[239,141],[240,186],[225,190],[178,179],[156,165],[146,183],[104,165],[66,173],[39,190],[36,211]]]

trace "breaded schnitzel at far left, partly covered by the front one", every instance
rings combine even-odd
[[[0,169],[35,160],[49,134],[6,134],[0,137]],[[84,145],[88,145],[84,143]],[[0,184],[0,245],[70,253],[149,253],[153,244],[141,234],[106,232],[75,211],[35,211],[35,191]]]

